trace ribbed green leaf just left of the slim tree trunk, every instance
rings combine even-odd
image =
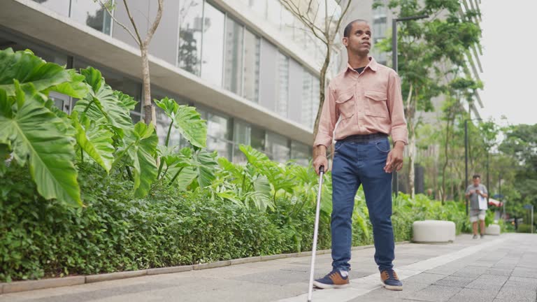
[[[130,131],[132,129],[129,113],[131,105],[124,100],[124,96],[115,93],[110,86],[106,85],[98,70],[88,67],[81,69],[80,73],[85,75],[85,82],[92,89],[85,99],[76,102],[74,110],[98,124],[110,124],[121,137],[124,131]]]

